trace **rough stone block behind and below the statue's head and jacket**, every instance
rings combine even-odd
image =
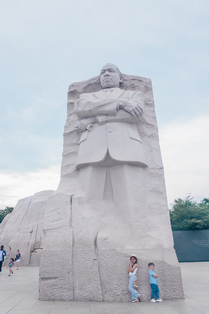
[[[155,263],[159,274],[160,297],[184,298],[173,248],[151,80],[122,77],[121,89],[138,90],[144,95],[146,111],[137,127],[148,166],[97,169],[98,193],[89,197],[89,178],[95,177],[91,166],[76,170],[81,133],[75,129],[78,118],[74,101],[81,93],[99,91],[101,85],[99,76],[71,84],[60,185],[49,197],[44,216],[40,300],[131,300],[127,273],[131,254],[138,257],[142,300],[149,300],[151,294],[149,262]],[[105,183],[101,179],[104,171]],[[122,171],[127,178],[125,186]]]

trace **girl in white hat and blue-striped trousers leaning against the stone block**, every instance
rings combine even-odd
[[[137,272],[137,257],[132,254],[130,256],[131,263],[129,264],[128,273],[129,273],[129,284],[128,290],[131,292],[132,302],[141,301],[141,295],[138,293],[137,289],[133,288],[133,281],[136,280],[136,272]]]

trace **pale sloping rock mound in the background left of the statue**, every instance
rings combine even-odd
[[[43,251],[43,218],[48,196],[53,190],[41,191],[20,199],[0,224],[0,244],[9,258],[16,257],[17,249],[22,255],[20,266],[39,266]]]

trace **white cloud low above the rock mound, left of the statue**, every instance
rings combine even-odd
[[[4,209],[37,192],[56,190],[60,182],[60,165],[36,172],[0,173],[0,182],[0,209]]]

